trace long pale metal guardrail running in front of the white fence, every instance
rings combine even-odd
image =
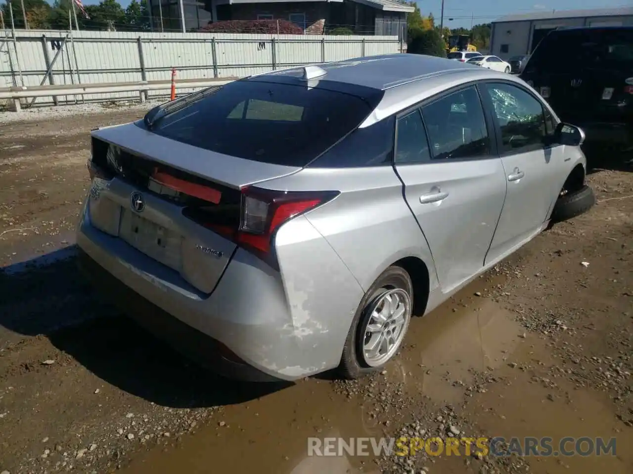
[[[211,87],[225,85],[237,80],[237,77],[210,79],[181,79],[176,80],[178,90],[183,88]],[[148,90],[165,90],[172,87],[171,80],[137,81],[118,83],[72,84],[72,85],[40,85],[35,87],[3,87],[0,88],[0,100],[12,100],[13,110],[22,110],[20,99],[35,97],[58,97],[60,95],[111,94],[113,92],[139,92],[139,99],[145,102]]]

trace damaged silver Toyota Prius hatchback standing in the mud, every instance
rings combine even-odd
[[[92,131],[80,262],[220,374],[359,377],[412,315],[594,204],[582,140],[522,80],[449,59],[250,76]]]

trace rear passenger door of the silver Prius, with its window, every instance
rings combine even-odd
[[[398,119],[396,173],[444,292],[482,268],[501,214],[506,179],[493,140],[474,86]]]

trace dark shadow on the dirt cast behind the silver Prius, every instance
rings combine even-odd
[[[170,408],[243,403],[291,382],[224,379],[97,297],[66,248],[0,269],[0,348],[42,334],[104,381]]]

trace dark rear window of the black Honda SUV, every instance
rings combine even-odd
[[[545,37],[528,61],[526,72],[620,71],[632,68],[633,29],[569,30]]]

